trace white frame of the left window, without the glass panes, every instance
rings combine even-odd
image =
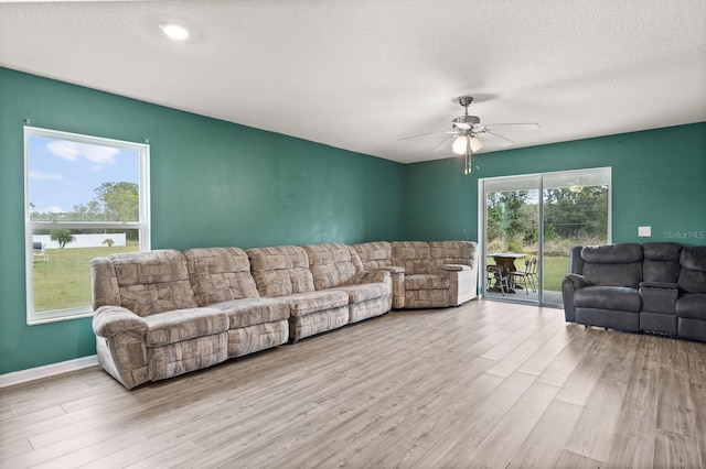
[[[67,140],[77,143],[88,143],[101,146],[114,146],[131,150],[138,153],[139,161],[139,220],[138,221],[32,221],[30,219],[30,138],[50,138]],[[26,273],[26,324],[36,325],[60,320],[76,319],[93,316],[93,306],[85,305],[73,308],[53,309],[46,312],[34,310],[34,260],[32,252],[32,233],[36,229],[130,229],[139,232],[140,251],[150,250],[150,145],[149,143],[135,143],[121,140],[105,139],[100,137],[82,135],[77,133],[62,132],[57,130],[24,127],[24,232],[25,232],[25,273]]]

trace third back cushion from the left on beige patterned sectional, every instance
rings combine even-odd
[[[255,285],[261,296],[313,292],[307,251],[298,246],[250,248],[247,251]]]

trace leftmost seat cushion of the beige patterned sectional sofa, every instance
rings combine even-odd
[[[189,308],[145,317],[148,347],[161,347],[228,330],[228,316],[215,308]]]

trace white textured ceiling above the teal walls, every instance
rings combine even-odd
[[[513,148],[706,121],[706,1],[4,2],[0,65],[410,163],[463,95]]]

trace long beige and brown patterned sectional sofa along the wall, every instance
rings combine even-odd
[[[92,261],[100,366],[132,389],[393,307],[457,306],[477,292],[475,243],[199,248]]]

